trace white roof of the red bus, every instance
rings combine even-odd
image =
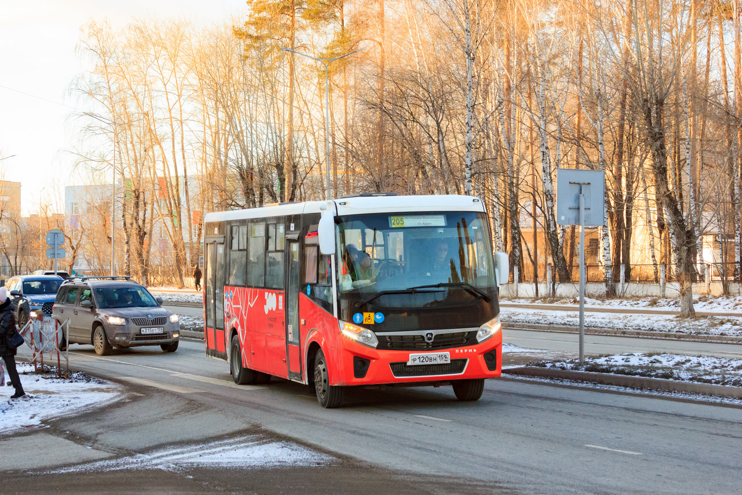
[[[206,222],[243,218],[279,217],[301,213],[320,213],[327,201],[306,201],[206,214]],[[456,194],[427,196],[353,196],[332,200],[338,215],[388,212],[484,212],[485,205],[477,197]]]

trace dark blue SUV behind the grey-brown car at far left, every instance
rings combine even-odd
[[[24,327],[33,311],[51,316],[54,298],[62,281],[58,275],[20,275],[8,279],[5,289],[16,312],[19,328]]]

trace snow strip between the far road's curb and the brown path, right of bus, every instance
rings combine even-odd
[[[500,318],[505,324],[541,324],[579,326],[580,311],[560,311],[530,308],[502,308]],[[680,318],[675,315],[645,315],[631,313],[585,312],[585,327],[606,330],[642,330],[678,335],[729,335],[742,337],[742,317],[707,316]]]

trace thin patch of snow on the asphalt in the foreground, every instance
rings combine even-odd
[[[274,468],[327,465],[334,457],[285,440],[240,436],[194,445],[179,445],[117,459],[90,462],[50,473],[119,471],[122,469]]]

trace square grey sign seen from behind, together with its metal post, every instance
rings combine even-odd
[[[585,361],[585,226],[605,218],[605,172],[557,169],[557,223],[580,226],[580,364]]]

